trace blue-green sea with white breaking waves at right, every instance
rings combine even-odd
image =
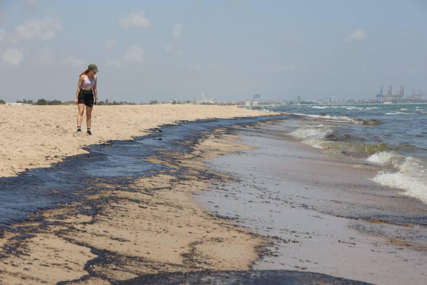
[[[427,203],[427,104],[248,108],[298,115],[294,138],[331,155],[382,166],[375,182]]]

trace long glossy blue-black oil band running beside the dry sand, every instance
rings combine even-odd
[[[22,221],[27,214],[38,209],[55,208],[58,203],[78,201],[83,194],[93,194],[97,191],[91,188],[94,180],[114,181],[126,187],[138,176],[151,176],[159,170],[167,170],[164,165],[153,164],[146,159],[161,157],[167,152],[191,151],[192,145],[206,136],[204,132],[220,126],[271,119],[217,119],[162,126],[154,129],[151,135],[135,140],[88,146],[88,154],[72,156],[49,168],[29,170],[18,177],[0,178],[0,226]]]

